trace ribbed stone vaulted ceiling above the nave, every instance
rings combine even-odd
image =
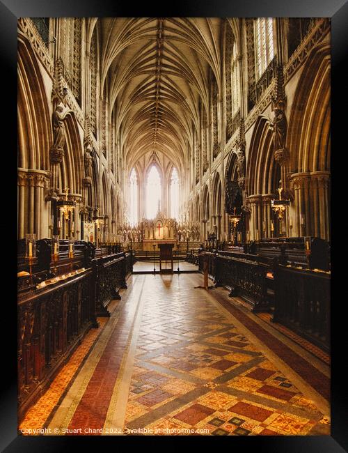
[[[219,18],[90,19],[100,42],[101,93],[108,93],[127,169],[156,151],[179,170],[199,130],[199,102],[209,108],[209,74],[220,86]],[[211,69],[209,71],[209,69]]]

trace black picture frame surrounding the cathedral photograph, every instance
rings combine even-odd
[[[141,440],[142,448],[151,448],[166,443],[169,447],[177,448],[180,445],[198,447],[197,442],[201,438],[189,436],[175,436],[170,438],[141,438],[123,437],[98,437],[66,438],[48,436],[17,436],[17,282],[16,282],[16,255],[15,227],[13,221],[17,216],[17,200],[15,191],[15,137],[17,137],[17,111],[15,100],[17,98],[17,18],[18,17],[331,17],[332,38],[332,76],[331,100],[333,103],[332,126],[333,149],[335,158],[332,160],[334,179],[331,183],[331,199],[337,196],[341,203],[344,197],[340,197],[340,187],[335,190],[335,181],[345,181],[344,174],[347,167],[342,163],[346,151],[345,131],[347,130],[346,117],[338,114],[336,108],[343,105],[347,109],[347,51],[348,51],[348,2],[345,0],[218,0],[207,1],[195,0],[166,2],[157,6],[156,3],[143,3],[140,7],[127,2],[111,2],[106,0],[61,0],[50,2],[47,0],[2,0],[0,1],[0,57],[1,72],[5,75],[5,81],[1,86],[1,98],[3,115],[1,124],[3,135],[1,144],[2,154],[5,158],[3,164],[10,166],[7,171],[10,175],[10,183],[3,183],[4,206],[0,217],[1,245],[3,249],[3,261],[6,260],[7,271],[1,279],[3,293],[9,289],[8,295],[3,296],[1,313],[1,376],[4,378],[1,384],[0,397],[0,448],[4,452],[65,452],[81,448],[81,443],[88,443],[89,447],[100,449],[101,444],[110,443],[113,449],[123,450],[129,442]],[[8,141],[5,144],[5,140]],[[13,162],[11,160],[13,158]],[[13,165],[13,167],[12,167]],[[337,174],[338,171],[338,174]],[[13,177],[13,179],[12,179]],[[13,200],[12,197],[14,198]],[[341,205],[342,206],[342,205]],[[8,213],[8,208],[10,213]],[[14,210],[13,215],[11,209]],[[342,210],[339,214],[344,214]],[[337,216],[338,217],[338,216]],[[338,232],[335,239],[335,222],[340,220],[332,217],[332,285],[339,291],[345,287],[345,267],[339,266],[339,256],[344,254],[345,230]],[[342,241],[343,238],[343,241]],[[336,244],[336,247],[335,247]],[[3,245],[5,247],[3,247]],[[7,248],[6,248],[7,247]],[[340,248],[342,247],[342,248]],[[335,257],[338,257],[335,259]],[[11,263],[11,266],[7,266]],[[12,266],[13,263],[13,266]],[[11,278],[12,277],[12,278]],[[338,294],[338,291],[335,291]],[[347,404],[347,374],[344,366],[345,358],[345,332],[347,330],[345,316],[342,315],[345,304],[345,293],[340,298],[333,298],[332,303],[332,353],[331,353],[331,436],[287,436],[287,437],[239,437],[219,438],[205,437],[204,445],[208,448],[228,447],[237,450],[240,447],[257,448],[258,451],[271,452],[315,452],[335,453],[348,451],[348,404]],[[7,327],[7,330],[6,330]],[[191,439],[191,440],[190,440]],[[78,442],[78,444],[77,444]],[[223,445],[220,445],[223,444]],[[200,443],[200,445],[203,445]],[[168,447],[166,446],[166,448]]]

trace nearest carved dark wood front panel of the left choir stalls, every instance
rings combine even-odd
[[[19,418],[52,381],[86,332],[97,327],[92,271],[21,293],[18,300]]]

